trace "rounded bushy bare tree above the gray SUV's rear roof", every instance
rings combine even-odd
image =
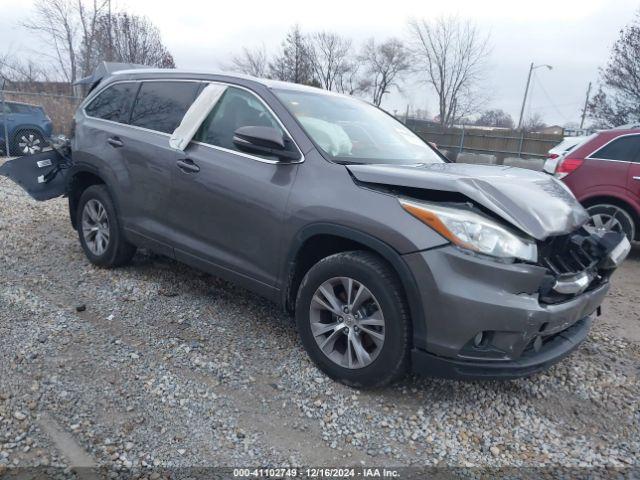
[[[128,13],[103,15],[94,41],[100,58],[174,68],[173,56],[162,43],[160,31],[146,17]]]

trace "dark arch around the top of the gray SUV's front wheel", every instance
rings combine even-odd
[[[362,231],[337,224],[313,224],[294,238],[283,267],[282,304],[293,313],[298,288],[304,275],[319,260],[335,253],[366,250],[379,255],[398,275],[411,315],[412,344],[426,344],[426,323],[417,283],[402,256],[387,243]]]

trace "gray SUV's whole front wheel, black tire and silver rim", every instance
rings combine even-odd
[[[368,293],[363,290],[365,293],[358,295],[360,286]],[[334,294],[339,308],[325,308],[330,302],[323,289]],[[345,310],[348,303],[352,310]],[[340,311],[344,315],[338,315]],[[319,261],[300,284],[295,316],[307,353],[332,379],[371,388],[387,385],[406,373],[411,320],[405,295],[396,273],[377,255],[351,251]]]

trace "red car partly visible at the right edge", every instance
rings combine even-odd
[[[545,170],[567,184],[593,227],[640,240],[640,128],[596,133]]]

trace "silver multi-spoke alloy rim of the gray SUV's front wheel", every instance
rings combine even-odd
[[[320,285],[311,300],[309,322],[322,353],[344,368],[371,365],[384,345],[380,304],[353,278],[335,277]]]

